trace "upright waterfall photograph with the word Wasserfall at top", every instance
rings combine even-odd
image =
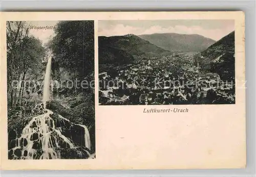
[[[8,159],[95,159],[94,21],[7,21]]]

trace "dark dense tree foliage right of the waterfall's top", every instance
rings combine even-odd
[[[94,80],[94,21],[60,21],[54,31],[48,47],[59,67],[73,79]]]

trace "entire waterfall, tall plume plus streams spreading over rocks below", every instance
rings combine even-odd
[[[49,98],[51,74],[51,58],[48,60],[43,104],[35,105],[25,128],[10,142],[8,154],[11,159],[60,159],[63,156],[71,158],[94,158],[90,154],[91,141],[86,125],[76,124],[65,117],[46,109]],[[81,138],[77,138],[81,135]],[[63,153],[64,152],[64,153]]]

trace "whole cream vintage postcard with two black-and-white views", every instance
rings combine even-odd
[[[244,168],[244,20],[1,13],[1,169]]]

